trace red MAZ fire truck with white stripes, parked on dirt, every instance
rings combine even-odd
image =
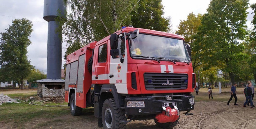
[[[67,56],[65,101],[74,116],[94,107],[99,127],[154,119],[172,128],[194,109],[195,77],[182,36],[124,27]]]

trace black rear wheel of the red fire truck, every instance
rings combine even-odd
[[[82,110],[83,110],[83,108],[78,107],[78,106],[75,105],[75,93],[73,93],[71,95],[71,99],[70,99],[71,115],[73,115],[73,116],[81,115],[82,114]]]

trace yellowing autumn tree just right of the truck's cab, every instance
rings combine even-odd
[[[193,12],[190,13],[186,21],[180,22],[178,31],[176,31],[176,33],[184,36],[185,42],[190,42],[193,70],[202,64],[200,60],[202,47],[199,42],[194,42],[197,38],[198,27],[201,25],[201,17],[201,14],[196,16]]]

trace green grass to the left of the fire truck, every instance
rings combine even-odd
[[[9,94],[11,98],[22,97],[29,98],[30,96],[35,97],[35,93],[18,93]],[[68,106],[63,107],[46,107],[29,105],[29,102],[16,103],[4,103],[0,105],[0,121],[4,123],[13,122],[15,123],[15,128],[22,128],[26,122],[33,121],[35,118],[52,119],[55,117],[63,116],[70,113]],[[47,105],[67,105],[67,103],[49,103]],[[58,122],[58,120],[54,121]],[[14,124],[13,124],[14,125]]]

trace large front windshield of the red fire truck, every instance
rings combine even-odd
[[[149,56],[158,60],[166,58],[178,62],[190,62],[185,42],[180,39],[139,34],[137,38],[130,39],[129,44],[133,58]]]

